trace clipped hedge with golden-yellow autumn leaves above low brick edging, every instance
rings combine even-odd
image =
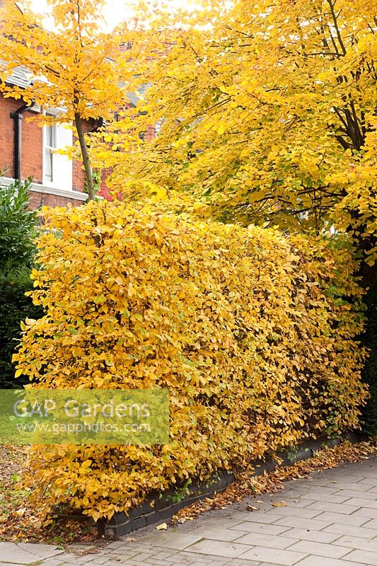
[[[356,262],[339,239],[120,202],[45,209],[18,374],[48,388],[170,391],[165,446],[34,446],[46,507],[98,519],[151,492],[358,427]]]

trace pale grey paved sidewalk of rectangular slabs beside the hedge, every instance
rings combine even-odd
[[[377,457],[286,483],[168,531],[82,555],[0,543],[0,562],[43,566],[377,566]],[[272,503],[284,500],[285,505]],[[248,504],[259,507],[248,512]],[[280,503],[281,504],[281,503]],[[88,548],[88,552],[91,550]],[[95,549],[93,549],[95,550]]]

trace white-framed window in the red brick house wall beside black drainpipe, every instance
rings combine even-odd
[[[56,115],[46,112],[47,116]],[[63,190],[72,190],[72,161],[57,149],[72,145],[72,131],[65,124],[45,125],[43,131],[43,183]]]

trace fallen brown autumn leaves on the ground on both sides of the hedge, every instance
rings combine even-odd
[[[373,454],[377,454],[377,439],[358,444],[344,441],[335,448],[321,449],[312,458],[294,466],[277,468],[257,477],[252,475],[251,470],[238,473],[236,481],[228,485],[224,492],[181,509],[173,517],[173,524],[195,519],[209,509],[224,509],[245,497],[278,493],[284,489],[286,480],[310,480],[313,472],[335,468],[342,463],[358,462]],[[22,485],[22,468],[26,458],[25,446],[0,446],[0,541],[55,544],[99,542],[97,529],[86,521],[70,519],[69,511],[66,511],[65,517],[59,517],[57,514],[50,516],[47,521],[40,519],[41,509],[31,506],[28,500],[29,491]],[[249,504],[246,509],[255,512],[259,510],[260,503],[263,501],[256,499],[255,505]],[[280,498],[272,503],[274,507],[284,507],[285,504]],[[164,527],[165,524],[160,526],[160,529]]]

